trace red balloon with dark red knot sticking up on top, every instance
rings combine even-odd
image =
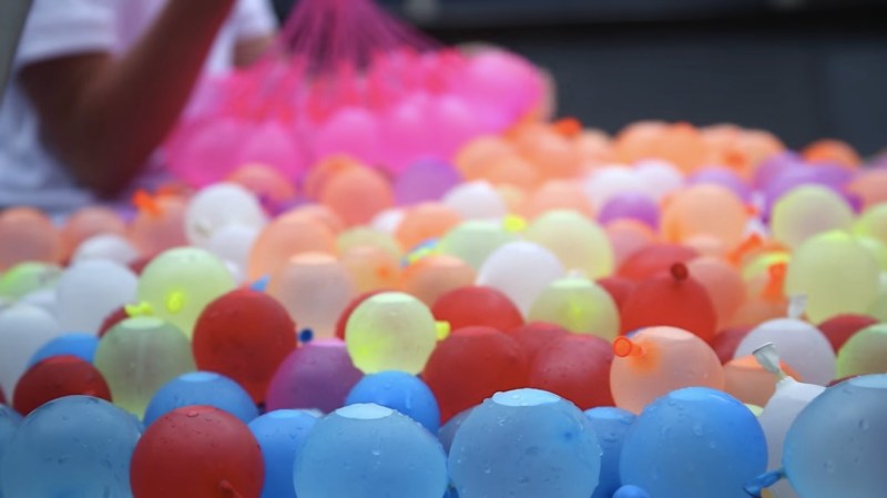
[[[622,333],[644,327],[672,326],[711,341],[717,315],[705,287],[675,263],[667,273],[650,277],[631,294],[621,312]]]

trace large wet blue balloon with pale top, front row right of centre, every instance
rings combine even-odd
[[[497,393],[471,410],[449,455],[460,498],[589,498],[601,447],[585,415],[539,389]]]

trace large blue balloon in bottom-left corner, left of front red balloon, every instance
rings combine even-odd
[[[140,431],[122,409],[67,396],[32,411],[0,461],[7,498],[130,497],[130,459]]]

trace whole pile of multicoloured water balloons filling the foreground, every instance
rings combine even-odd
[[[0,496],[883,498],[886,185],[563,120],[4,211]]]

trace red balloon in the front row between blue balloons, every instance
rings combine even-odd
[[[258,498],[262,450],[237,417],[185,406],[155,420],[130,465],[134,498]]]

